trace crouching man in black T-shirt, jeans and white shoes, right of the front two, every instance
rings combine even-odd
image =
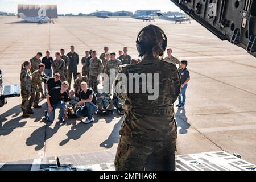
[[[81,82],[81,92],[80,92],[81,101],[79,102],[82,105],[76,111],[78,117],[86,117],[85,121],[82,121],[85,124],[91,123],[94,121],[92,117],[93,113],[98,110],[97,107],[97,98],[92,89],[89,89],[86,82]]]

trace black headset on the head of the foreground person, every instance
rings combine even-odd
[[[142,28],[141,31],[139,31],[139,34],[138,34],[137,39],[136,39],[136,48],[137,48],[137,51],[139,52],[139,57],[142,57],[146,53],[146,49],[145,49],[146,46],[145,46],[144,42],[139,41],[139,36],[141,36],[142,32],[144,30],[146,30],[148,27],[154,27],[155,28],[157,26],[150,24],[150,25]],[[159,27],[157,27],[157,28],[159,28]],[[163,49],[163,51],[166,51],[167,37],[166,37],[166,34],[164,34],[164,31],[161,28],[159,28],[159,29],[160,29],[160,31],[162,31],[162,35],[164,36],[163,43],[162,43],[162,49]]]

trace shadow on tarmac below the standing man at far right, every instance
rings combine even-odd
[[[175,117],[176,117],[176,122],[177,122],[177,128],[180,127],[180,129],[178,129],[177,132],[179,132],[179,134],[188,133],[187,129],[189,129],[190,124],[188,123],[188,118],[186,117],[185,108],[177,109],[177,111],[175,113]]]

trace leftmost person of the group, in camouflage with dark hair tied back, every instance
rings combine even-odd
[[[33,114],[34,112],[28,110],[28,98],[31,94],[31,86],[32,86],[32,76],[30,73],[31,63],[29,61],[25,61],[22,64],[22,71],[20,72],[20,91],[22,96],[22,117],[28,118],[30,117],[28,114]]]

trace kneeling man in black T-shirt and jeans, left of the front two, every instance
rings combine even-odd
[[[67,116],[67,106],[65,102],[68,101],[68,82],[64,81],[61,84],[60,87],[55,87],[52,88],[51,91],[47,94],[47,105],[48,105],[48,111],[46,114],[46,121],[53,122],[55,119],[55,110],[57,108],[60,109],[60,114],[59,114],[59,121],[61,123],[64,123],[65,119],[68,118]]]

